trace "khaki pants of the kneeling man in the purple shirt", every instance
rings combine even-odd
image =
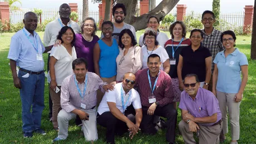
[[[199,144],[218,144],[219,143],[219,135],[222,129],[222,122],[220,125],[215,126],[201,126],[199,134]],[[183,137],[183,140],[186,144],[195,144],[195,140],[193,137],[193,132],[189,130],[189,124],[187,124],[184,120],[181,120],[179,123],[179,130]]]

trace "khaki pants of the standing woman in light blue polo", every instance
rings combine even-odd
[[[224,93],[216,91],[217,99],[219,101],[220,111],[223,121],[223,133],[228,133],[228,116],[230,119],[231,137],[232,140],[239,140],[240,126],[240,104],[241,102],[235,102],[235,95],[231,93]]]

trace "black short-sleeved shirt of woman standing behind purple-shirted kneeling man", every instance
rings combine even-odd
[[[200,45],[194,52],[189,45],[181,50],[180,55],[183,56],[182,78],[184,79],[186,74],[196,74],[200,82],[205,81],[205,59],[211,56],[210,50]]]

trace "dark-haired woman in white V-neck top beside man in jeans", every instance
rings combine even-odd
[[[74,43],[76,41],[75,32],[71,27],[62,27],[57,39],[61,40],[61,45],[52,48],[50,57],[50,71],[48,73],[49,90],[52,99],[52,124],[58,130],[57,116],[61,110],[61,83],[68,76],[73,74],[72,61],[76,59]]]

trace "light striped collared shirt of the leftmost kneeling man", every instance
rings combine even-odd
[[[71,112],[75,109],[91,109],[97,104],[97,90],[100,89],[102,92],[105,92],[102,86],[106,85],[106,83],[101,80],[100,76],[91,72],[87,72],[86,74],[88,75],[88,79],[83,99],[76,88],[75,74],[67,76],[67,78],[63,80],[61,86],[61,107],[66,112]],[[85,81],[83,83],[77,81],[77,85],[81,90],[81,94],[83,94]],[[81,107],[81,103],[86,105],[86,109]]]

